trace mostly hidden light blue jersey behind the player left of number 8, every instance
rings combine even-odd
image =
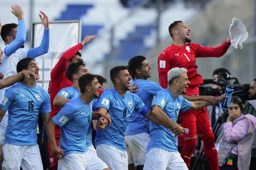
[[[73,97],[80,95],[80,91],[71,86],[71,87],[62,88],[56,96],[58,95],[62,96],[65,99],[72,99]],[[91,145],[92,145],[92,121],[90,122],[88,131],[86,134],[86,147],[90,147]]]

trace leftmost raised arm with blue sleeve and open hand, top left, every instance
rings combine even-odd
[[[20,8],[20,6],[14,5],[12,6],[12,14],[18,18],[18,30],[15,39],[12,36],[6,37],[8,41],[12,40],[11,43],[4,49],[4,54],[7,57],[17,51],[26,41],[26,28],[23,10]]]

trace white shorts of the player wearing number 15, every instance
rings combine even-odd
[[[43,170],[43,164],[38,145],[4,144],[3,170]]]

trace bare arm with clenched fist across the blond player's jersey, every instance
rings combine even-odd
[[[184,128],[172,121],[158,105],[154,105],[152,111],[146,115],[148,119],[158,125],[162,125],[174,133],[174,136],[179,136],[184,133]]]

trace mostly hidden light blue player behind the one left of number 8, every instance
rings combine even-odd
[[[58,92],[58,94],[55,96],[53,100],[53,105],[55,107],[63,107],[66,103],[70,101],[70,99],[80,95],[78,79],[80,78],[80,76],[87,73],[89,73],[88,69],[86,68],[86,65],[82,59],[78,60],[78,62],[76,63],[71,63],[66,70],[66,76],[70,81],[72,81],[73,85],[71,87],[66,87],[60,90],[60,92]],[[97,115],[98,112],[93,112],[93,113],[95,113],[93,114],[93,117],[101,116],[101,115]],[[106,118],[109,119],[109,116],[107,116]],[[88,127],[88,132],[86,135],[86,147],[88,148],[88,150],[96,154],[96,150],[92,145],[92,128],[91,127],[92,127],[92,122],[90,122],[90,125]]]

